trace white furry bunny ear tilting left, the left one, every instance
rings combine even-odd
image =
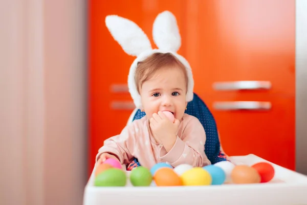
[[[105,18],[105,25],[127,54],[138,56],[144,51],[151,50],[147,35],[131,20],[117,15],[108,15]]]

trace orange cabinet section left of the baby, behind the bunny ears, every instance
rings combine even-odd
[[[119,134],[133,111],[126,85],[135,57],[127,55],[113,39],[105,26],[105,17],[116,14],[132,20],[147,34],[152,48],[156,48],[152,40],[152,24],[157,14],[170,10],[182,28],[184,6],[177,0],[89,1],[90,173],[103,141]]]

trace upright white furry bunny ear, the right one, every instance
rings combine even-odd
[[[152,36],[161,50],[177,52],[181,46],[181,36],[176,17],[169,11],[160,13],[153,23]]]

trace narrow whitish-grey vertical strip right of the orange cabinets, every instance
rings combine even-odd
[[[307,175],[307,1],[296,0],[295,35],[295,126],[296,171]]]

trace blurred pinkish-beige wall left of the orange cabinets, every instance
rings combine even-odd
[[[82,204],[85,1],[0,1],[0,204]]]

